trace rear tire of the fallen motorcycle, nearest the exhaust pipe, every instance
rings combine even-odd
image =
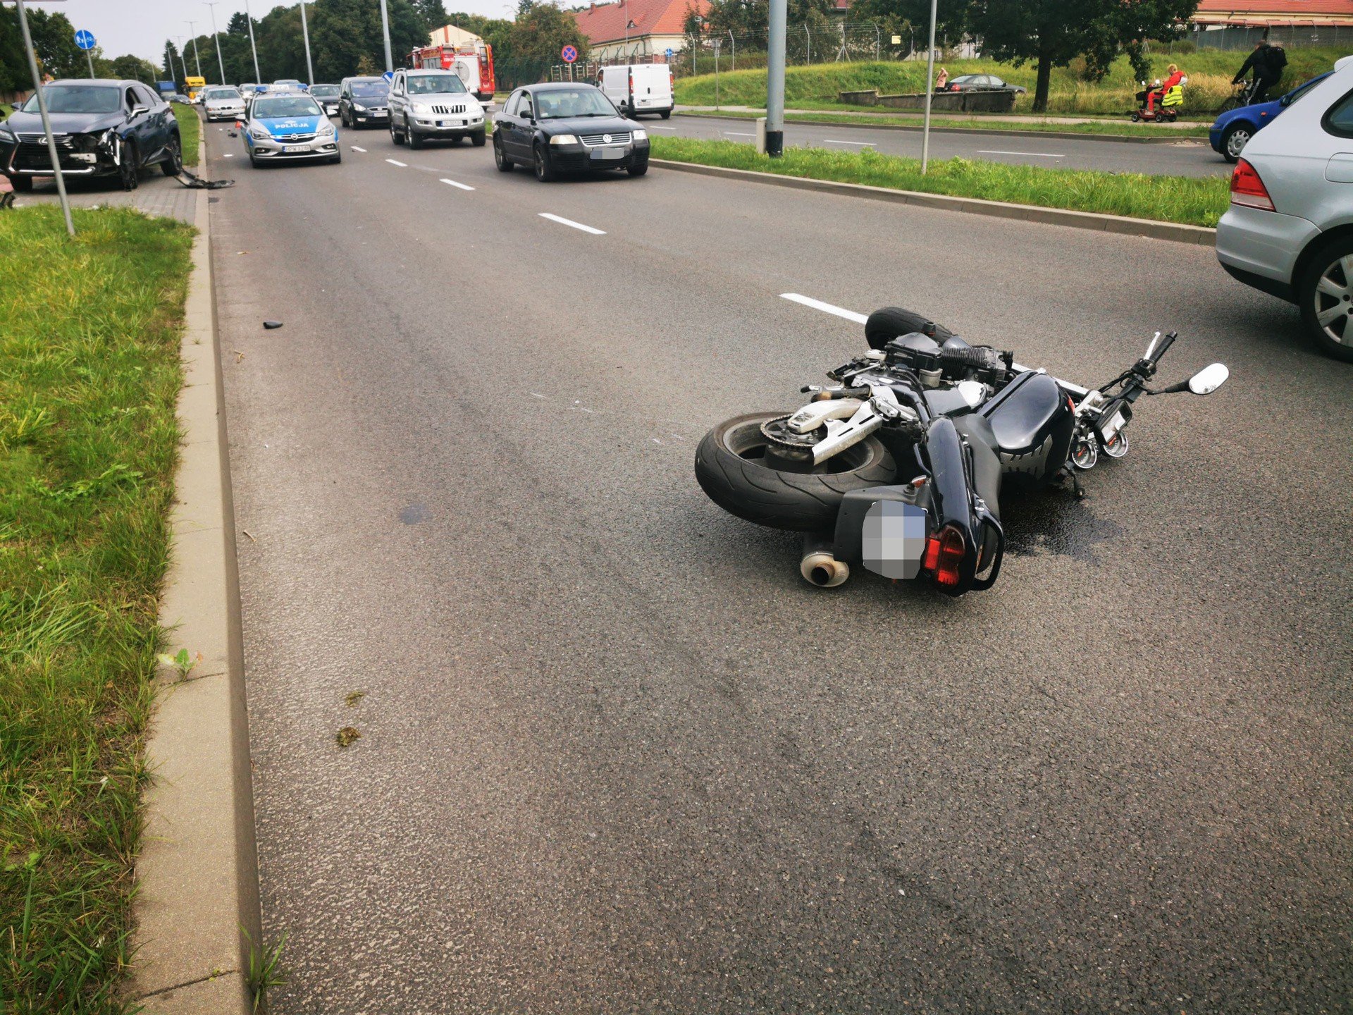
[[[846,467],[842,472],[783,472],[760,464],[755,453],[760,425],[781,415],[750,413],[725,420],[695,449],[695,479],[729,514],[773,529],[828,531],[848,491],[897,479],[893,456],[877,437],[835,456],[831,461]]]

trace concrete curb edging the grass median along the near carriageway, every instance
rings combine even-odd
[[[866,187],[865,184],[835,183],[832,180],[809,180],[801,176],[759,173],[752,169],[725,169],[724,166],[717,165],[672,162],[666,158],[649,158],[648,161],[649,165],[662,166],[663,169],[675,169],[683,173],[723,176],[733,180],[747,180],[750,183],[766,183],[773,187],[790,187],[800,191],[843,194],[851,198],[867,198],[870,200],[882,200],[892,204],[916,204],[923,208],[966,211],[974,215],[1013,218],[1023,222],[1045,222],[1053,226],[1070,226],[1072,229],[1095,229],[1101,233],[1123,233],[1126,235],[1145,235],[1151,240],[1173,240],[1180,244],[1211,245],[1216,242],[1216,230],[1206,229],[1204,226],[1181,226],[1174,222],[1153,222],[1151,219],[1145,218],[1101,215],[1093,211],[1040,208],[1034,204],[1009,204],[1000,200],[982,200],[981,198],[951,198],[944,194],[894,191],[888,187]]]

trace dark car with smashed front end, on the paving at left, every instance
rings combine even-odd
[[[53,81],[42,89],[65,176],[115,176],[135,189],[153,165],[165,176],[183,169],[183,143],[173,110],[139,81]],[[37,96],[0,123],[0,172],[16,191],[51,176],[51,157]]]

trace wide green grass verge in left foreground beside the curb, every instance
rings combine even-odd
[[[0,214],[0,1011],[122,1012],[192,229]]]

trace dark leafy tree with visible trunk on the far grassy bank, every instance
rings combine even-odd
[[[1054,66],[1082,53],[1101,62],[1120,47],[1139,53],[1143,39],[1172,38],[1196,8],[1197,0],[977,0],[971,28],[984,55],[1036,62],[1034,111],[1045,112]]]

